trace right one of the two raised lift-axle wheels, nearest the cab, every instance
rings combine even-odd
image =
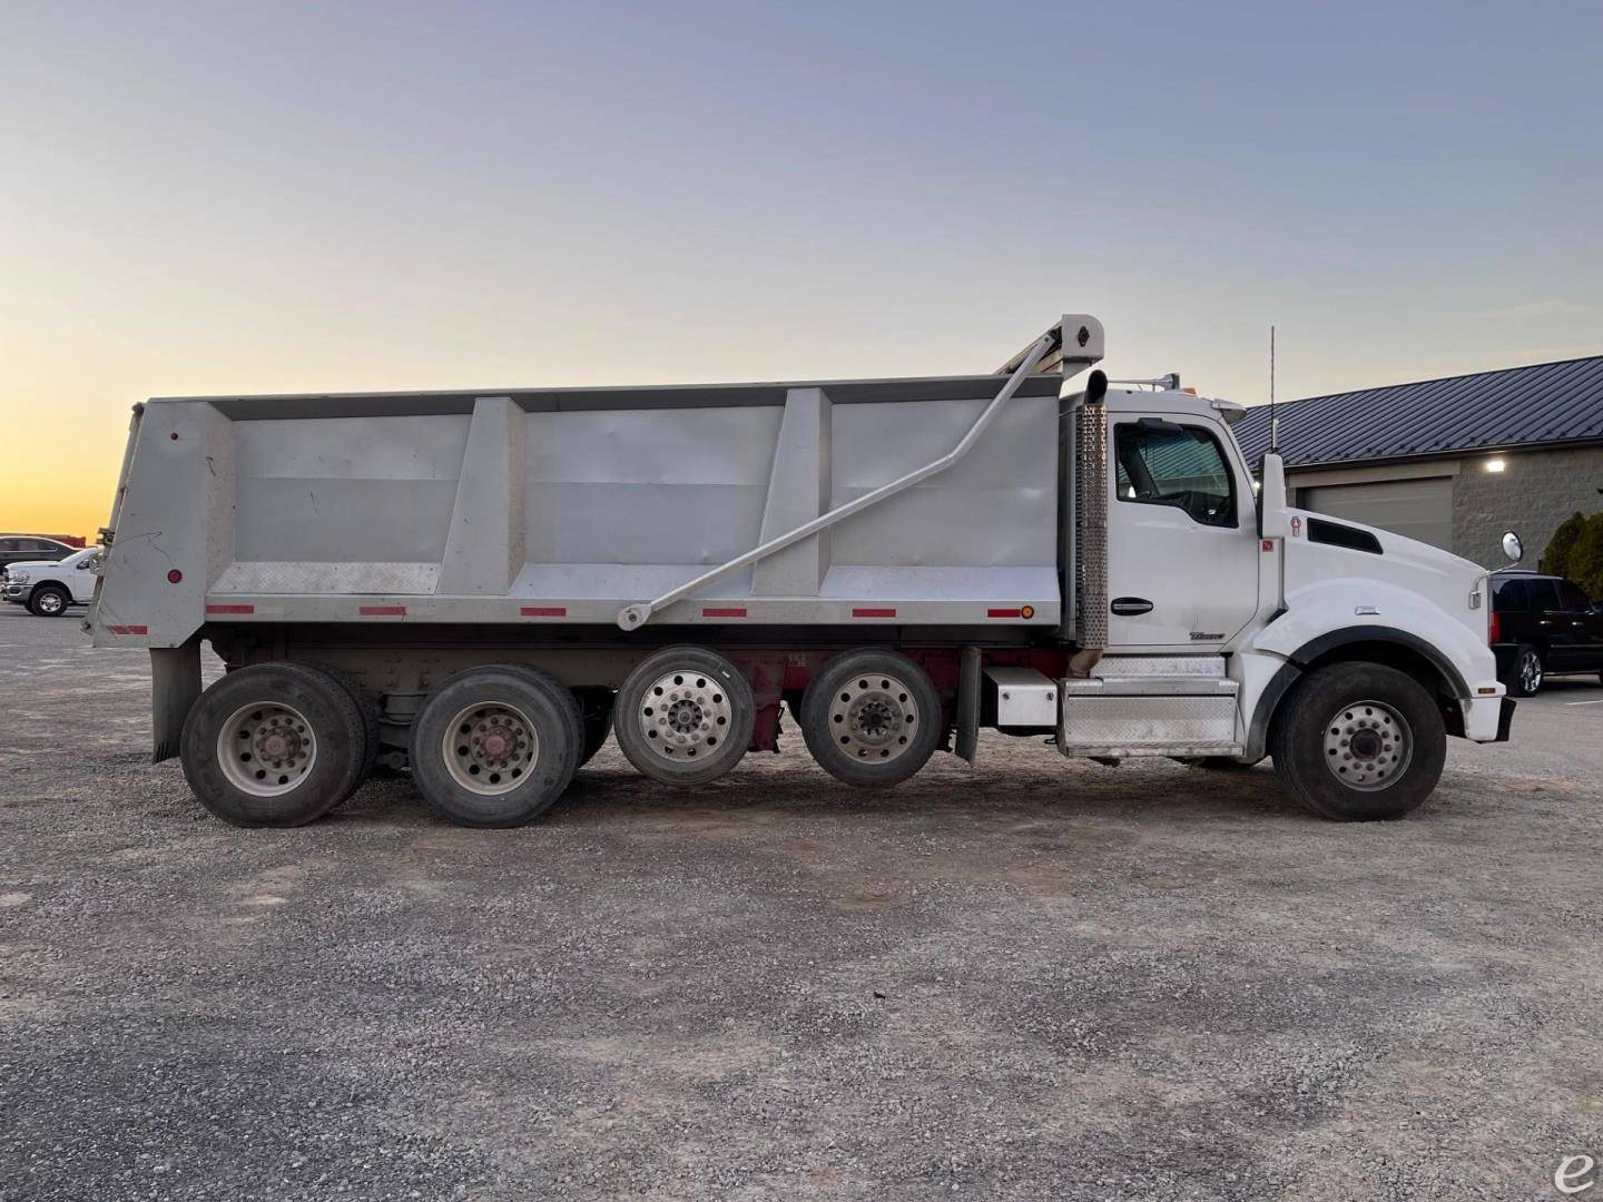
[[[850,651],[808,684],[802,737],[837,780],[861,789],[899,785],[941,742],[941,696],[906,655]]]

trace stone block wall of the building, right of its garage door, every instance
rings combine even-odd
[[[1452,550],[1486,567],[1502,567],[1502,532],[1524,542],[1524,567],[1537,559],[1558,522],[1571,513],[1603,510],[1603,447],[1515,450],[1504,471],[1465,455],[1452,482]]]

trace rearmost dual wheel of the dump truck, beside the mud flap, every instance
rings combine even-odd
[[[298,827],[349,795],[367,755],[356,704],[305,664],[231,672],[184,720],[184,779],[236,827]]]

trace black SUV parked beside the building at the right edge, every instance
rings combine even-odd
[[[1603,673],[1603,604],[1560,575],[1492,572],[1491,643],[1497,678],[1515,697],[1529,697],[1548,673]]]

